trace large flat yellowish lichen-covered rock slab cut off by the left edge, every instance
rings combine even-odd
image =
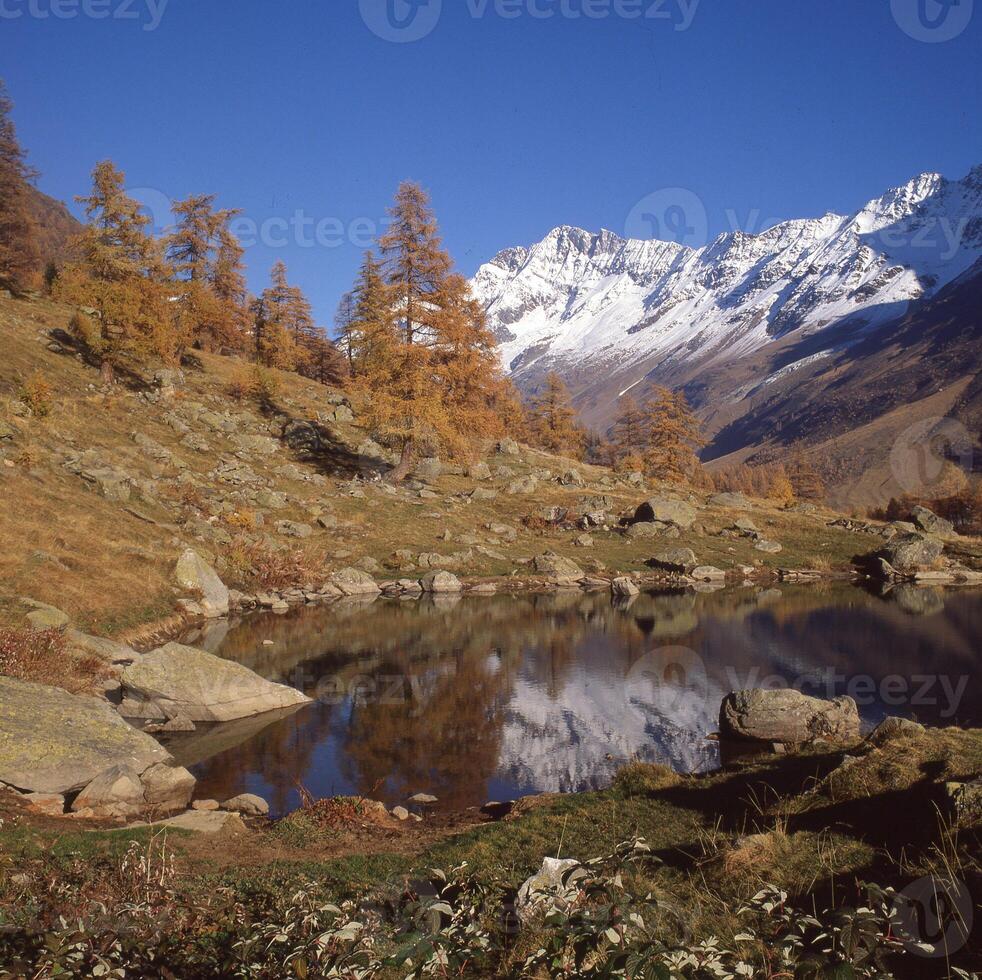
[[[70,793],[114,765],[136,773],[171,756],[107,701],[0,677],[0,782],[26,792]]]

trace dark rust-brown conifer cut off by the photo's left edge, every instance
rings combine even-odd
[[[0,285],[20,293],[34,284],[41,251],[28,203],[36,174],[17,141],[12,108],[0,80]]]

